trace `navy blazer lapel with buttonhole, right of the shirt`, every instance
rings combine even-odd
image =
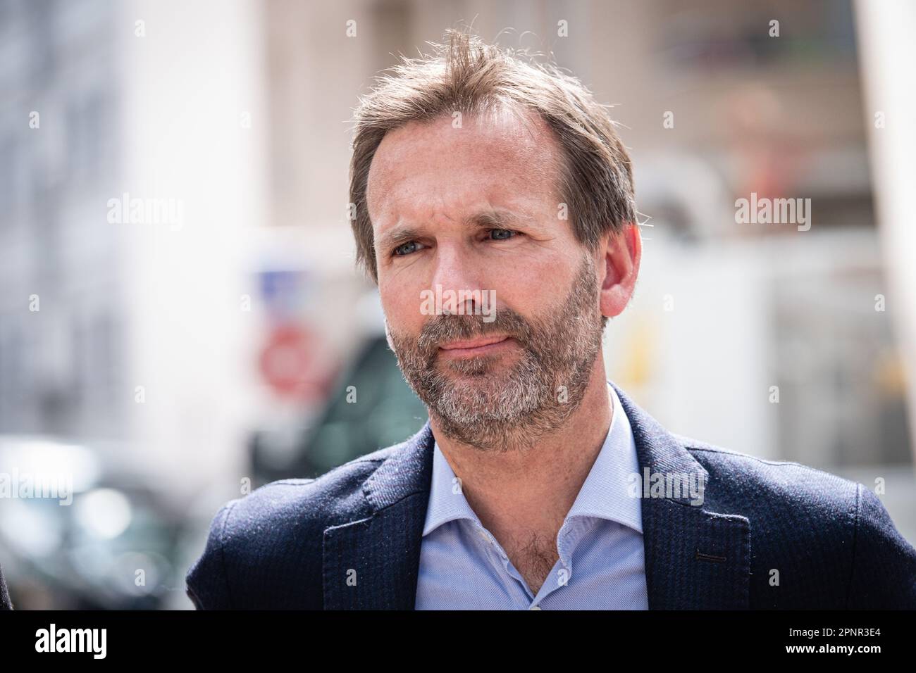
[[[614,385],[611,383],[611,385]],[[750,601],[750,522],[716,512],[717,485],[660,423],[616,385],[645,475],[703,476],[702,504],[692,498],[644,497],[643,544],[649,610],[740,610]]]

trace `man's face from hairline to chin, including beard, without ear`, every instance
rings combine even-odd
[[[537,117],[442,117],[389,133],[369,173],[388,342],[443,431],[481,449],[560,427],[601,350],[601,257],[562,219],[560,152]]]

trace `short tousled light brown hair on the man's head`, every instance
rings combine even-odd
[[[393,74],[377,78],[354,113],[350,163],[351,220],[356,263],[378,281],[366,183],[376,149],[388,131],[442,114],[481,114],[503,105],[530,110],[551,127],[562,147],[559,193],[576,239],[596,249],[608,230],[636,222],[633,176],[627,149],[615,124],[581,81],[552,64],[521,58],[458,30],[445,32],[445,44],[418,59],[402,57]]]

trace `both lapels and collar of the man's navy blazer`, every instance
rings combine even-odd
[[[681,441],[611,382],[636,441],[641,476],[701,475],[703,503],[686,492],[642,494],[646,587],[650,610],[744,609],[749,605],[750,523],[714,511],[715,483]],[[324,530],[325,609],[412,610],[420,570],[420,544],[430,499],[432,450],[429,420],[397,445],[363,484],[372,508],[364,519]],[[660,475],[660,476],[657,476]]]

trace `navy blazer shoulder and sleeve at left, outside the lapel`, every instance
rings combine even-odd
[[[267,483],[225,503],[186,576],[194,605],[320,609],[324,529],[370,516],[363,485],[400,446],[376,450],[315,479]]]

